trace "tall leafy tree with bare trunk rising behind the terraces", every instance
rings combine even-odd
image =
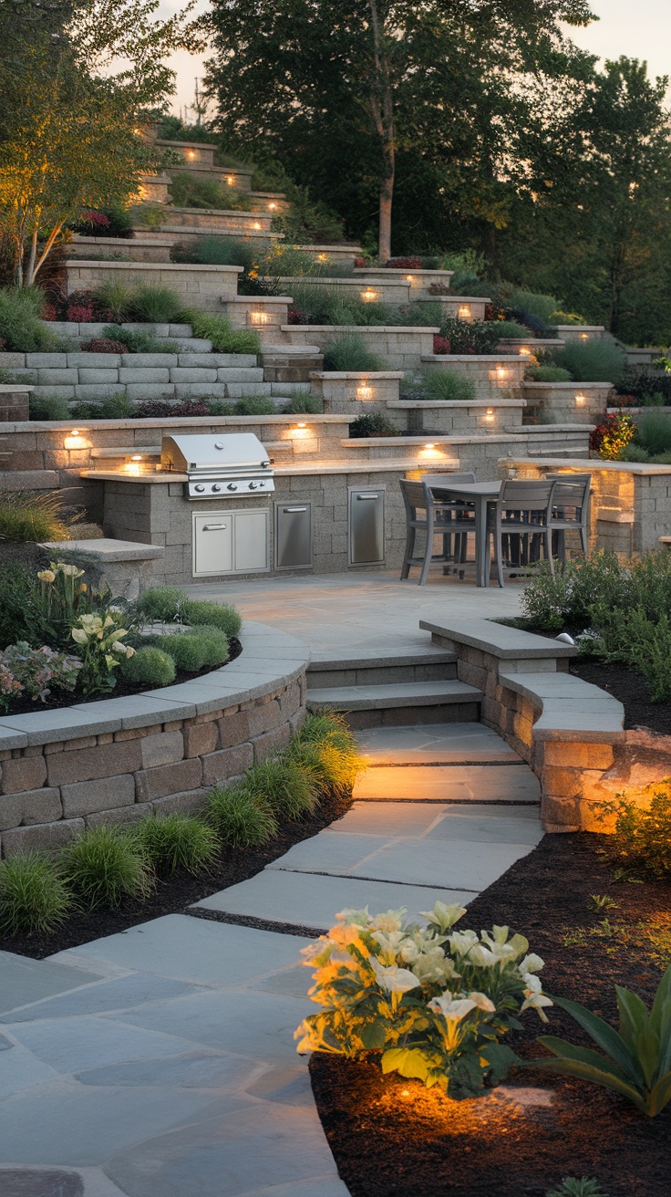
[[[350,145],[374,180],[386,260],[399,150],[423,156],[433,140],[434,175],[457,164],[472,176],[477,162],[494,195],[517,107],[511,77],[563,44],[559,20],[590,19],[586,0],[213,0],[207,85],[231,146],[280,156],[311,146],[319,158],[336,141],[352,177]],[[462,91],[468,105],[451,107]],[[494,101],[504,117],[487,123]],[[450,162],[437,139],[452,142]]]

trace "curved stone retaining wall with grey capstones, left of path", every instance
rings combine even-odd
[[[85,827],[191,812],[283,748],[305,717],[309,649],[245,624],[222,669],[147,694],[0,718],[2,856]]]

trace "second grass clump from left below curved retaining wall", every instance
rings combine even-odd
[[[152,875],[129,836],[115,827],[90,827],[61,852],[65,876],[89,906],[118,906],[123,898],[146,898]]]

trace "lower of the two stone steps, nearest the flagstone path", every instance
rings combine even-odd
[[[331,707],[350,728],[408,727],[417,723],[472,723],[480,718],[482,691],[466,682],[402,681],[374,686],[325,686],[310,691],[312,710]]]

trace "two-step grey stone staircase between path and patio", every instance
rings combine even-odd
[[[456,661],[431,645],[371,657],[313,655],[307,704],[342,711],[352,728],[476,723],[483,694],[457,680]]]

